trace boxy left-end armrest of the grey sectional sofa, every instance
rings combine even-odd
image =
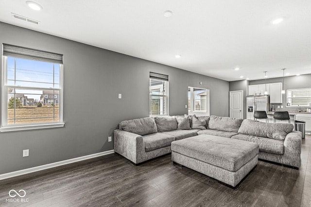
[[[135,164],[145,161],[145,144],[142,136],[120,129],[113,131],[114,151]]]

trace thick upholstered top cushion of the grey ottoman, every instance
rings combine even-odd
[[[172,151],[235,172],[259,153],[259,145],[212,135],[172,142]]]

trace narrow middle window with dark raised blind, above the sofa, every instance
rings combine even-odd
[[[150,72],[150,116],[168,115],[168,76]]]

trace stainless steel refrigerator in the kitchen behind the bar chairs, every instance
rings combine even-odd
[[[246,118],[254,119],[254,111],[270,110],[270,96],[246,96]]]

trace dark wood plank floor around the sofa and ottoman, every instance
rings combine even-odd
[[[307,207],[311,206],[311,136],[303,139],[301,158],[299,170],[259,161],[233,190],[174,165],[171,155],[134,166],[112,154],[2,180],[0,206]],[[6,202],[10,190],[21,189],[28,202]]]

